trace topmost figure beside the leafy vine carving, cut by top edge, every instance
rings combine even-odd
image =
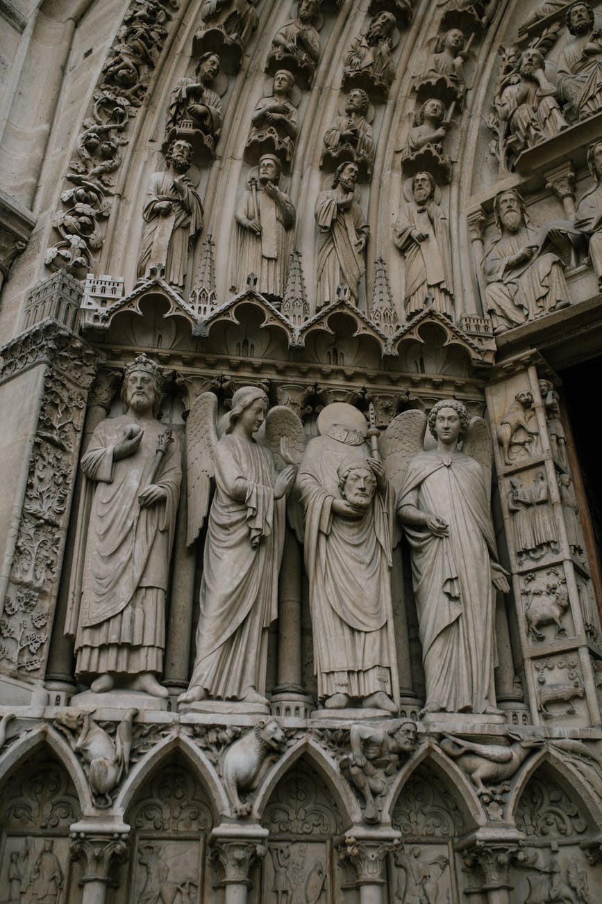
[[[246,42],[259,22],[257,3],[258,0],[205,0],[200,13],[203,24],[192,42],[193,55],[216,52],[224,71],[236,74]]]

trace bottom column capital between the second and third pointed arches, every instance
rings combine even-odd
[[[209,859],[222,872],[219,884],[226,890],[224,904],[246,904],[252,888],[249,873],[267,853],[267,835],[261,825],[223,825],[213,829]]]

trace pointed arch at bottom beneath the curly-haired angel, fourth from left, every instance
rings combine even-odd
[[[440,778],[454,804],[458,807],[465,824],[464,831],[466,833],[472,832],[480,825],[486,824],[486,815],[468,778],[432,741],[428,741],[416,750],[394,778],[384,799],[381,815],[383,823],[392,822],[394,808],[403,792],[403,788],[412,781],[412,777],[416,776],[420,767],[432,770]]]

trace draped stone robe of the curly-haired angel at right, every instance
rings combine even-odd
[[[448,712],[495,706],[495,540],[485,476],[474,458],[414,456],[397,501],[440,515],[449,537],[404,524],[412,549],[427,704]],[[403,519],[402,519],[403,520]]]

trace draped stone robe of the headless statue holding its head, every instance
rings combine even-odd
[[[349,431],[349,437],[357,436]],[[347,439],[348,439],[347,438]],[[366,513],[349,520],[332,512],[340,499],[337,468],[357,450],[331,436],[310,439],[297,477],[305,508],[305,567],[310,580],[314,668],[320,700],[334,693],[366,697],[394,693],[390,517],[393,500],[375,494]],[[395,678],[396,682],[396,678]]]

